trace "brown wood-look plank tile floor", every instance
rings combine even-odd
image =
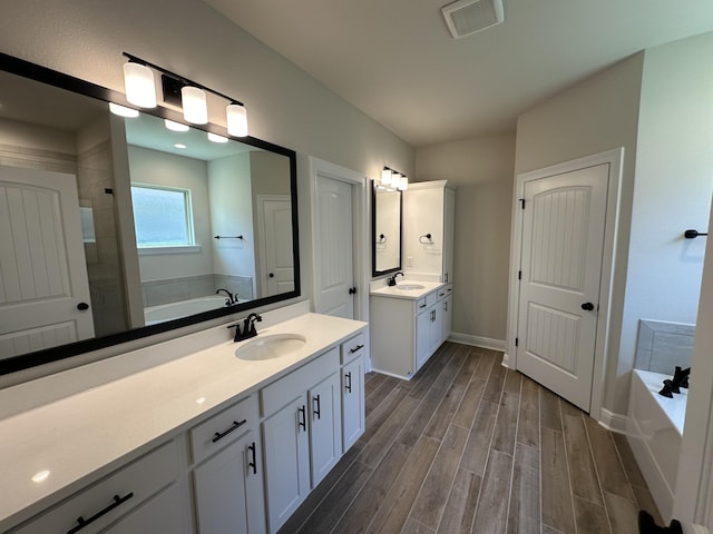
[[[623,436],[502,353],[446,343],[410,382],[370,373],[367,429],[280,530],[636,534],[661,521]]]

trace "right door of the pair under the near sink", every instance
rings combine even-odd
[[[324,478],[342,455],[341,407],[339,373],[310,389],[312,487]]]

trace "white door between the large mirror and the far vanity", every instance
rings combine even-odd
[[[315,192],[315,312],[353,319],[352,187],[318,174]]]

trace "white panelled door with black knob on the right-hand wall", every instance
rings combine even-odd
[[[524,184],[517,368],[589,411],[608,165]]]

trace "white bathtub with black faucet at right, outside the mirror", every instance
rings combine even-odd
[[[667,522],[673,513],[688,390],[682,388],[673,398],[658,395],[666,378],[671,376],[634,369],[626,431],[636,463]]]

